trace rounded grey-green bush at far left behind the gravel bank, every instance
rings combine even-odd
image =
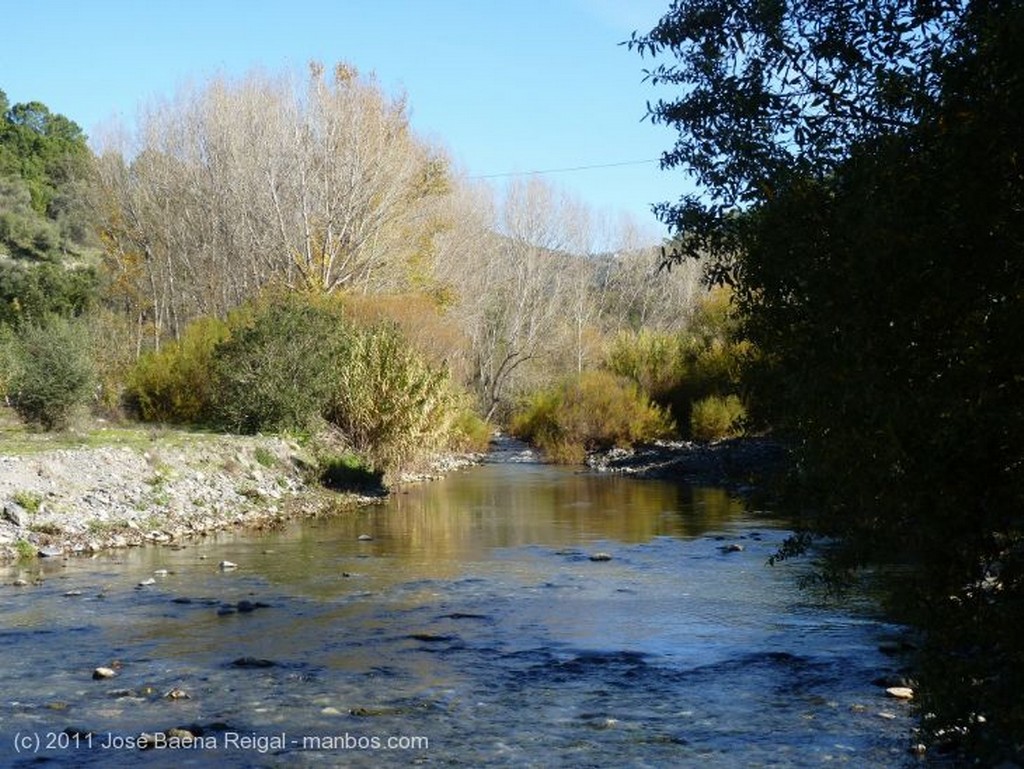
[[[80,322],[51,316],[22,329],[17,353],[10,383],[15,411],[30,425],[65,429],[92,395],[88,331]]]

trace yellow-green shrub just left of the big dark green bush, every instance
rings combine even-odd
[[[201,317],[181,339],[142,355],[128,374],[125,398],[145,422],[195,424],[209,419],[215,399],[213,354],[227,325]]]

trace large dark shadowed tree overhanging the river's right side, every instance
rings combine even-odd
[[[926,722],[1024,743],[1024,5],[677,2],[632,43],[835,569],[909,566]],[[797,542],[806,542],[806,539]],[[978,716],[984,716],[979,719]]]

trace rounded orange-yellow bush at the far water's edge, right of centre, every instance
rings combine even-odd
[[[512,420],[512,432],[556,462],[580,462],[589,451],[629,446],[674,430],[640,388],[608,372],[585,372],[535,393]]]

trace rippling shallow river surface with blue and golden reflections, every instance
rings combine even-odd
[[[496,463],[2,569],[0,765],[901,766],[898,629],[767,566],[784,537],[722,489]],[[133,742],[171,727],[200,738]]]

